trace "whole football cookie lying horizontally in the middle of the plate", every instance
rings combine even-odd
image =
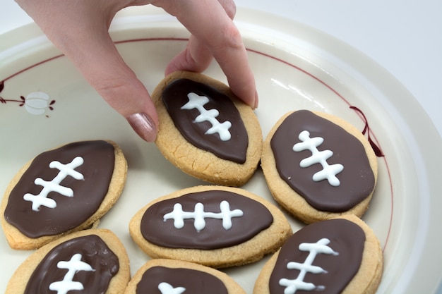
[[[129,232],[150,257],[223,268],[275,252],[292,228],[279,209],[251,192],[198,186],[150,202],[133,216]]]

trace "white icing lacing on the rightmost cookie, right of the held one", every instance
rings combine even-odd
[[[302,159],[299,163],[299,166],[302,168],[309,167],[313,164],[321,164],[323,169],[318,171],[313,175],[313,180],[318,182],[320,180],[328,180],[328,183],[333,187],[338,187],[340,185],[340,180],[336,177],[338,173],[340,173],[344,166],[342,164],[328,164],[327,159],[333,156],[333,152],[330,150],[319,151],[318,146],[324,142],[322,137],[310,137],[310,133],[308,130],[303,130],[299,133],[299,142],[293,146],[294,152],[300,152],[303,150],[310,150],[311,157],[307,157],[306,159]]]

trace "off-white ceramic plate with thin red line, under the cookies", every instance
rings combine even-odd
[[[326,111],[361,130],[364,118],[350,106],[364,112],[371,140],[385,154],[378,158],[378,185],[363,216],[385,257],[378,293],[434,293],[442,276],[442,189],[436,184],[442,142],[414,97],[366,56],[321,32],[256,11],[239,10],[236,21],[256,74],[261,102],[256,115],[264,135],[290,110]],[[111,30],[122,56],[150,91],[189,37],[174,18],[153,8],[122,11]],[[225,81],[216,63],[205,73]],[[122,147],[129,161],[126,188],[100,227],[119,235],[133,274],[148,260],[129,236],[133,214],[156,197],[205,183],[186,176],[155,145],[139,139],[35,25],[0,36],[0,81],[1,190],[25,162],[57,145],[111,139]],[[261,171],[244,188],[273,201]],[[288,218],[294,231],[303,226]],[[3,234],[0,250],[7,264],[0,271],[3,292],[31,252],[11,250]],[[252,293],[267,259],[225,271]]]

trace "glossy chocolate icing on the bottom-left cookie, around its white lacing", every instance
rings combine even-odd
[[[68,269],[59,269],[57,263],[69,261],[78,253],[82,256],[81,261],[89,264],[94,270],[76,272],[73,281],[82,283],[84,290],[75,290],[72,293],[105,293],[112,277],[119,271],[119,260],[100,237],[86,235],[61,243],[49,251],[32,273],[24,294],[52,293],[49,285],[63,281],[68,272]]]

